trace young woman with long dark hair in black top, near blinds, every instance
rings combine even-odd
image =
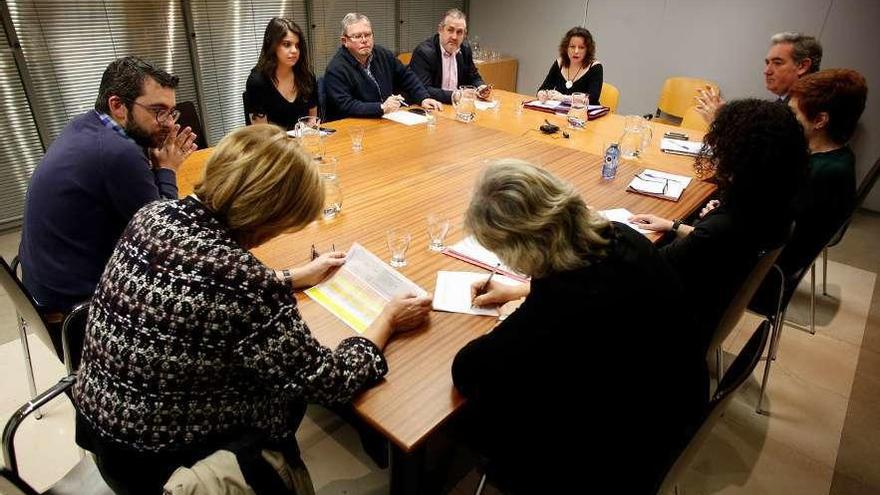
[[[318,115],[318,83],[297,23],[281,17],[269,21],[260,59],[248,76],[245,106],[252,123],[285,129],[293,129],[300,117]]]

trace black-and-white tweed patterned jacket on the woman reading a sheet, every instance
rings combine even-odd
[[[141,209],[89,312],[74,391],[104,441],[188,450],[242,431],[294,439],[303,402],[344,403],[387,372],[351,337],[318,343],[290,287],[195,198]]]

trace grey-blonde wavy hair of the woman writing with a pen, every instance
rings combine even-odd
[[[606,254],[610,223],[570,184],[522,160],[483,172],[465,226],[508,266],[526,275],[582,268]]]

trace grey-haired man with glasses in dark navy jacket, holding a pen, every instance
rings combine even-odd
[[[381,117],[406,104],[439,110],[419,79],[387,48],[373,42],[367,16],[346,14],[342,19],[342,46],[327,64],[326,120],[345,117]]]

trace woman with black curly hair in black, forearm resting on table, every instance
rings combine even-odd
[[[674,239],[660,250],[684,283],[678,310],[697,317],[702,345],[751,272],[761,251],[786,242],[794,198],[807,171],[807,143],[792,111],[747,99],[718,111],[695,162],[697,175],[718,185],[717,201],[693,226],[655,215],[632,221]]]

